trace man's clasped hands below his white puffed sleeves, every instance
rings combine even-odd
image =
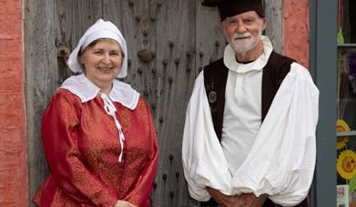
[[[268,197],[267,194],[256,197],[253,193],[225,195],[209,187],[207,187],[207,190],[210,196],[218,202],[221,207],[261,207]]]

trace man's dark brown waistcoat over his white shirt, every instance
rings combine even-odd
[[[262,74],[262,122],[269,112],[274,96],[277,94],[280,84],[290,72],[290,64],[295,62],[289,57],[272,52],[270,59],[263,68]],[[204,68],[204,85],[207,92],[210,111],[214,123],[215,132],[221,140],[222,124],[225,106],[225,89],[228,80],[229,69],[225,66],[222,59],[209,64]],[[202,202],[201,206],[218,206],[213,199],[209,202]],[[277,205],[267,199],[263,207],[277,207]],[[308,202],[305,199],[299,207],[307,207]]]

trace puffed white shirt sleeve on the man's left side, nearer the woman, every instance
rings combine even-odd
[[[200,202],[210,198],[207,186],[225,194],[231,193],[228,163],[219,146],[201,72],[188,103],[182,143],[182,163],[188,192]]]

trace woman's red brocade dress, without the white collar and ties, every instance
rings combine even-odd
[[[125,134],[122,161],[117,126],[100,95],[83,103],[59,89],[42,119],[51,173],[33,199],[40,206],[148,206],[158,165],[158,141],[142,96],[134,110],[113,102]]]

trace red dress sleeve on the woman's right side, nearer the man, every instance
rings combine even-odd
[[[149,157],[145,168],[135,183],[135,187],[127,194],[124,200],[135,203],[137,206],[148,206],[150,203],[150,194],[152,191],[153,181],[155,179],[158,167],[158,138],[155,125],[152,120],[151,113],[145,103],[145,110],[147,111],[147,123],[149,125],[149,139],[151,140],[151,147]]]

